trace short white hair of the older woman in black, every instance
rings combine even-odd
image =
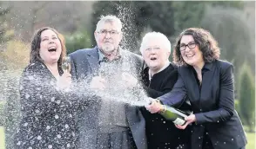
[[[165,36],[162,33],[159,32],[149,32],[146,33],[145,36],[142,39],[142,42],[140,44],[140,52],[143,53],[143,50],[145,49],[145,46],[148,44],[148,42],[150,42],[151,40],[158,40],[161,41],[161,43],[163,44],[164,48],[168,51],[171,52],[171,42],[169,41],[169,39],[167,38],[167,36]]]

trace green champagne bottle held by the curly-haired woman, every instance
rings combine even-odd
[[[165,109],[160,112],[160,114],[165,117],[166,120],[172,120],[172,122],[177,125],[185,125],[185,117],[190,115],[190,113],[185,113],[174,107],[163,106]]]

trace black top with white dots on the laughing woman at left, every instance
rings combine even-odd
[[[61,70],[60,70],[61,72]],[[58,91],[56,79],[43,62],[31,63],[20,80],[22,120],[15,148],[75,148],[76,94]]]

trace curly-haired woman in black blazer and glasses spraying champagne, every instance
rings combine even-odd
[[[246,134],[234,109],[233,67],[219,60],[218,42],[205,29],[185,29],[176,43],[173,60],[179,79],[172,91],[158,98],[164,105],[179,107],[187,95],[193,114],[192,149],[244,149]],[[146,107],[151,113],[164,110],[158,101]]]

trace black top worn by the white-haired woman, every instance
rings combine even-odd
[[[145,85],[146,93],[152,98],[157,98],[170,92],[178,79],[177,68],[172,64],[163,71],[154,74],[151,81],[149,81],[148,71],[149,68],[144,69],[142,81]],[[142,113],[146,121],[146,135],[149,148],[174,149],[176,146],[188,144],[190,139],[188,130],[179,130],[172,121],[165,120],[159,113],[149,113],[145,108],[142,108]]]

